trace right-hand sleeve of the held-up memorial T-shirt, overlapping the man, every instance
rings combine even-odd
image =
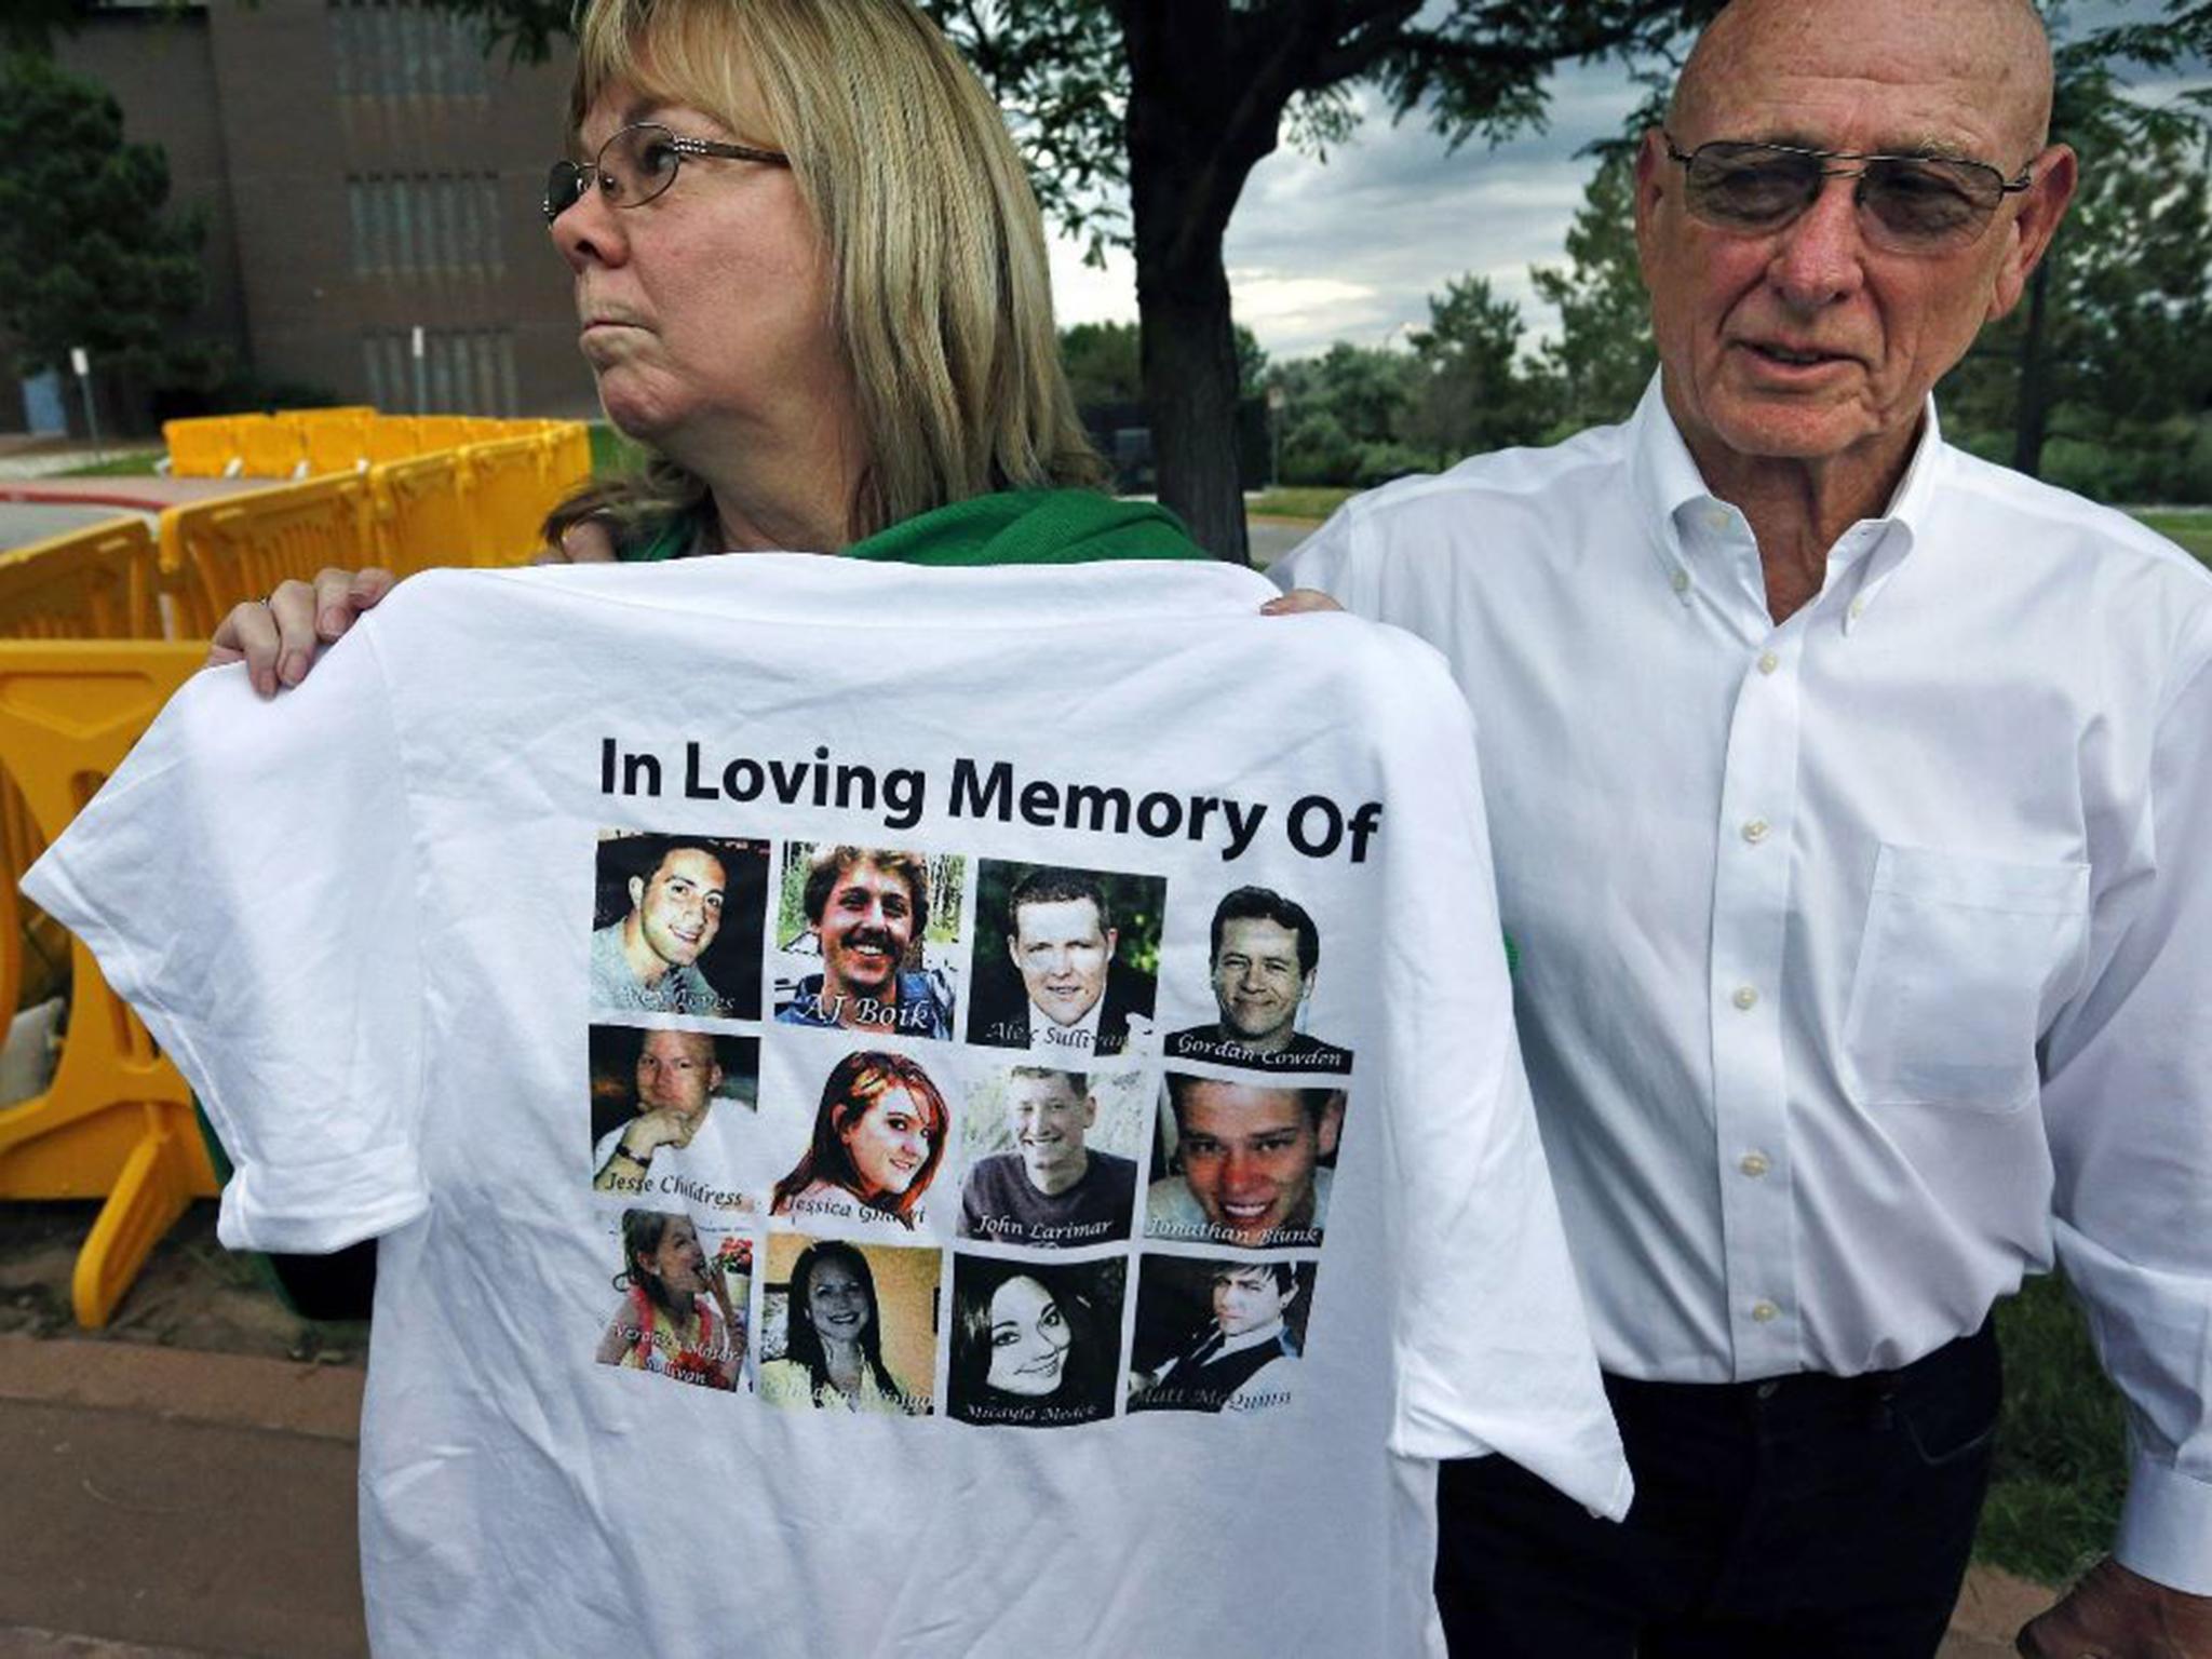
[[[1429,646],[1389,650],[1374,719],[1398,726],[1380,898],[1380,1006],[1400,1035],[1385,1066],[1405,1263],[1391,1449],[1498,1451],[1619,1520],[1632,1489],[1513,1029],[1475,726]]]

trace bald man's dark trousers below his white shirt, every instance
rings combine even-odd
[[[1590,1520],[1504,1458],[1442,1464],[1453,1659],[1929,1659],[1966,1573],[1995,1334],[1865,1378],[1606,1378],[1637,1500]]]

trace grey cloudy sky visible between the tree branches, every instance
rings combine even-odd
[[[2077,27],[2161,11],[2159,0],[2073,7]],[[1252,170],[1230,221],[1237,321],[1274,358],[1310,356],[1332,341],[1383,345],[1425,325],[1429,294],[1473,272],[1520,301],[1533,336],[1548,334],[1555,316],[1528,288],[1528,265],[1564,263],[1568,219],[1597,166],[1577,150],[1619,133],[1635,106],[1624,66],[1577,64],[1551,80],[1548,128],[1498,148],[1475,139],[1447,155],[1418,115],[1391,126],[1376,100],[1325,164],[1283,146]],[[1079,243],[1057,239],[1053,288],[1062,325],[1137,316],[1126,252],[1093,270]]]

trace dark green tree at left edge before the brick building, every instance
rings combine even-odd
[[[168,159],[124,142],[97,84],[46,58],[0,62],[0,327],[29,369],[82,345],[161,378],[195,356],[179,338],[199,305],[199,226],[164,215]]]

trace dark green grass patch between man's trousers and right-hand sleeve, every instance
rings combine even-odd
[[[2059,1584],[2101,1555],[2119,1524],[2128,1453],[2119,1396],[2057,1279],[1997,1307],[2004,1418],[1973,1553]]]

